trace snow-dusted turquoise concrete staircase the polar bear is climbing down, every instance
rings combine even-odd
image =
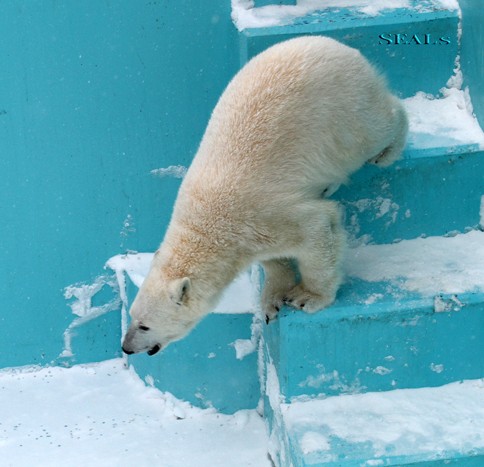
[[[482,44],[470,56],[478,36],[462,28],[479,7],[267,3],[233,2],[241,65],[297,35],[360,49],[405,99],[404,157],[364,168],[335,195],[352,249],[330,309],[286,308],[267,326],[255,302],[233,313],[259,282],[252,274],[252,288],[229,291],[185,340],[129,360],[150,384],[226,412],[256,406],[262,390],[276,465],[484,466],[484,136],[470,107],[484,118],[483,89],[464,66],[482,60]],[[130,261],[111,267],[132,278]],[[128,280],[125,307],[135,291]]]

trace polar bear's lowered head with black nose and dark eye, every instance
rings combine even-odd
[[[123,351],[154,355],[184,337],[199,321],[191,295],[188,277],[166,280],[151,271],[131,307]]]

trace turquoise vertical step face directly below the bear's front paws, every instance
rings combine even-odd
[[[440,313],[429,305],[405,307],[387,304],[378,313],[373,306],[367,316],[341,318],[331,309],[306,321],[292,314],[267,326],[264,337],[286,400],[482,377],[482,303]]]

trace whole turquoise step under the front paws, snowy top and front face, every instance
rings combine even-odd
[[[281,396],[335,396],[484,377],[484,233],[348,252],[336,303],[264,329]]]

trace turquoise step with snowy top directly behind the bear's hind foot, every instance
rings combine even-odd
[[[443,88],[439,98],[417,93],[403,103],[410,132],[402,159],[383,170],[365,166],[335,194],[353,243],[446,235],[479,224],[484,133],[468,95]]]

